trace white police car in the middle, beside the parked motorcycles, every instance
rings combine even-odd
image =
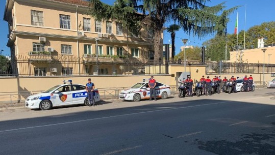
[[[156,94],[157,98],[167,99],[171,95],[171,89],[169,85],[156,82]],[[123,90],[119,94],[119,99],[128,101],[140,101],[142,99],[150,98],[150,88],[148,87],[148,81],[143,79],[143,82],[138,82],[129,89]]]

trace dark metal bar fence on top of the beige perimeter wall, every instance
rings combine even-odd
[[[29,54],[11,57],[0,63],[0,76],[73,76],[73,75],[145,75],[169,74],[172,64],[184,61],[161,61],[118,56],[63,56]],[[274,73],[275,64],[223,63],[187,60],[186,66],[205,65],[207,74]],[[170,73],[171,74],[171,73]]]

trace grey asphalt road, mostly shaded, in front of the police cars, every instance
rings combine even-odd
[[[0,112],[0,154],[275,154],[275,91]]]

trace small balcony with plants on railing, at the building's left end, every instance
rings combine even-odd
[[[31,51],[28,53],[28,59],[31,61],[52,61],[53,57],[48,51]]]

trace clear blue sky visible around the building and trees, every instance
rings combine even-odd
[[[101,0],[102,2],[113,5],[115,0]],[[222,0],[211,0],[211,3],[207,3],[207,6],[215,6],[220,4]],[[4,11],[5,11],[6,0],[0,0],[0,50],[4,50],[2,55],[10,55],[10,48],[8,48],[7,42],[7,34],[8,34],[8,23],[3,20]],[[246,5],[246,20],[245,19],[245,5]],[[228,23],[228,34],[234,33],[235,21],[237,18],[237,12],[239,13],[239,21],[238,21],[238,32],[240,30],[247,30],[252,26],[260,25],[263,22],[275,21],[275,1],[273,0],[228,0],[225,4],[227,6],[226,9],[230,9],[234,6],[241,6],[238,10],[230,15],[230,22]],[[246,22],[244,22],[246,21]],[[245,23],[245,24],[244,24]],[[165,27],[168,27],[171,23],[165,23]],[[202,46],[202,43],[213,38],[213,35],[208,35],[205,38],[198,39],[197,37],[188,36],[183,30],[179,30],[176,32],[175,46],[176,46],[176,54],[180,52],[180,47],[184,46],[182,43],[182,39],[188,39],[186,45],[192,46]],[[164,32],[164,43],[169,43],[171,40],[170,34]],[[171,44],[171,42],[170,42]]]

